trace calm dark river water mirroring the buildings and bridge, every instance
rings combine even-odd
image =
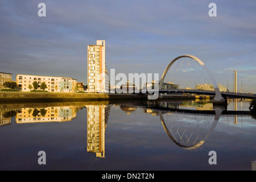
[[[0,119],[0,170],[249,171],[256,160],[249,101],[6,104]]]

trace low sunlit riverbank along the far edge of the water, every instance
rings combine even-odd
[[[212,96],[163,95],[166,99],[210,99]],[[84,102],[84,101],[139,101],[147,100],[146,94],[105,94],[105,93],[49,93],[49,92],[0,92],[0,104],[19,102]]]

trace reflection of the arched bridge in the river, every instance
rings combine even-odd
[[[234,110],[226,110],[226,107],[214,106],[212,102],[201,100],[148,102],[137,106],[142,107],[144,113],[159,116],[172,142],[192,150],[205,143],[220,117],[233,118],[234,125],[238,117],[251,117],[249,110],[237,110],[237,99],[229,101],[229,104],[233,104]]]

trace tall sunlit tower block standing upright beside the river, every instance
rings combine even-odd
[[[106,69],[105,40],[97,40],[89,45],[88,51],[88,92],[109,93],[109,77]]]

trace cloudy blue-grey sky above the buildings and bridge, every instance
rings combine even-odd
[[[210,3],[216,15],[210,17]],[[38,16],[45,3],[46,16]],[[0,72],[87,84],[87,46],[106,40],[115,73],[159,73],[175,57],[202,60],[216,82],[256,93],[256,1],[1,0]]]

